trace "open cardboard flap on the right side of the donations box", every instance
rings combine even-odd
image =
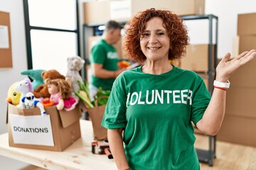
[[[72,111],[63,110],[59,111],[59,113],[63,128],[67,128],[69,125],[72,125],[73,123],[78,121],[82,116],[79,105],[75,106],[75,108]]]

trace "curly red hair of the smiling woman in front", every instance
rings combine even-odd
[[[189,44],[189,38],[182,19],[171,11],[151,8],[139,12],[127,23],[124,50],[131,60],[139,63],[143,63],[146,60],[146,56],[140,47],[140,39],[146,28],[146,22],[154,17],[159,17],[163,20],[163,26],[166,28],[170,38],[169,60],[180,59],[183,55],[186,55],[186,45]]]

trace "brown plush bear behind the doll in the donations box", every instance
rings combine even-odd
[[[43,71],[41,76],[43,77],[43,80],[46,79],[65,79],[65,76],[60,74],[55,69],[50,69],[48,71]],[[44,84],[41,84],[36,89],[34,89],[33,94],[36,98],[50,98],[50,94],[48,92],[48,88],[46,86],[46,82]]]

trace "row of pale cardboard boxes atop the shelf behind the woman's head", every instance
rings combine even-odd
[[[205,13],[205,0],[88,1],[83,4],[84,23],[100,24],[110,20],[126,22],[139,11],[144,11],[146,8],[166,9],[182,16],[203,15]]]

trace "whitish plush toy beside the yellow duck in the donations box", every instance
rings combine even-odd
[[[22,98],[25,97],[28,92],[33,91],[32,83],[30,79],[26,78],[26,79],[23,79],[22,81],[18,81],[18,83],[15,84],[14,86],[14,90],[18,91],[21,94],[20,102],[18,103],[17,107],[23,108],[22,101],[21,101]]]

